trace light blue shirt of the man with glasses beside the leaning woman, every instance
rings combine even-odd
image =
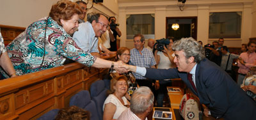
[[[74,33],[73,39],[83,51],[99,53],[98,37],[95,37],[92,23],[79,23],[78,30]]]

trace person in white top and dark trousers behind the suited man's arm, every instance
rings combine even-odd
[[[164,46],[163,51],[156,50],[154,52],[155,60],[157,63],[157,69],[170,69],[175,68],[176,65],[173,62],[175,57],[174,51],[172,50],[173,45],[173,37],[168,38],[170,40],[170,44]],[[160,87],[157,94],[157,107],[163,107],[163,98],[164,93],[166,92],[166,86],[171,86],[172,82],[170,79],[159,81]]]

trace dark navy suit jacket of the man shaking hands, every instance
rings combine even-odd
[[[211,110],[211,116],[225,119],[256,119],[256,103],[246,95],[218,65],[204,59],[196,66],[196,92],[186,72],[177,69],[149,69],[151,79],[181,78],[193,93]]]

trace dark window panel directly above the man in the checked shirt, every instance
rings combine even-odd
[[[126,15],[127,39],[133,39],[136,34],[143,34],[145,39],[155,38],[154,14]]]

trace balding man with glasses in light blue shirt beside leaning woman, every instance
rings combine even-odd
[[[88,13],[87,22],[79,23],[74,41],[83,51],[99,57],[98,37],[108,29],[108,19],[101,13]]]

